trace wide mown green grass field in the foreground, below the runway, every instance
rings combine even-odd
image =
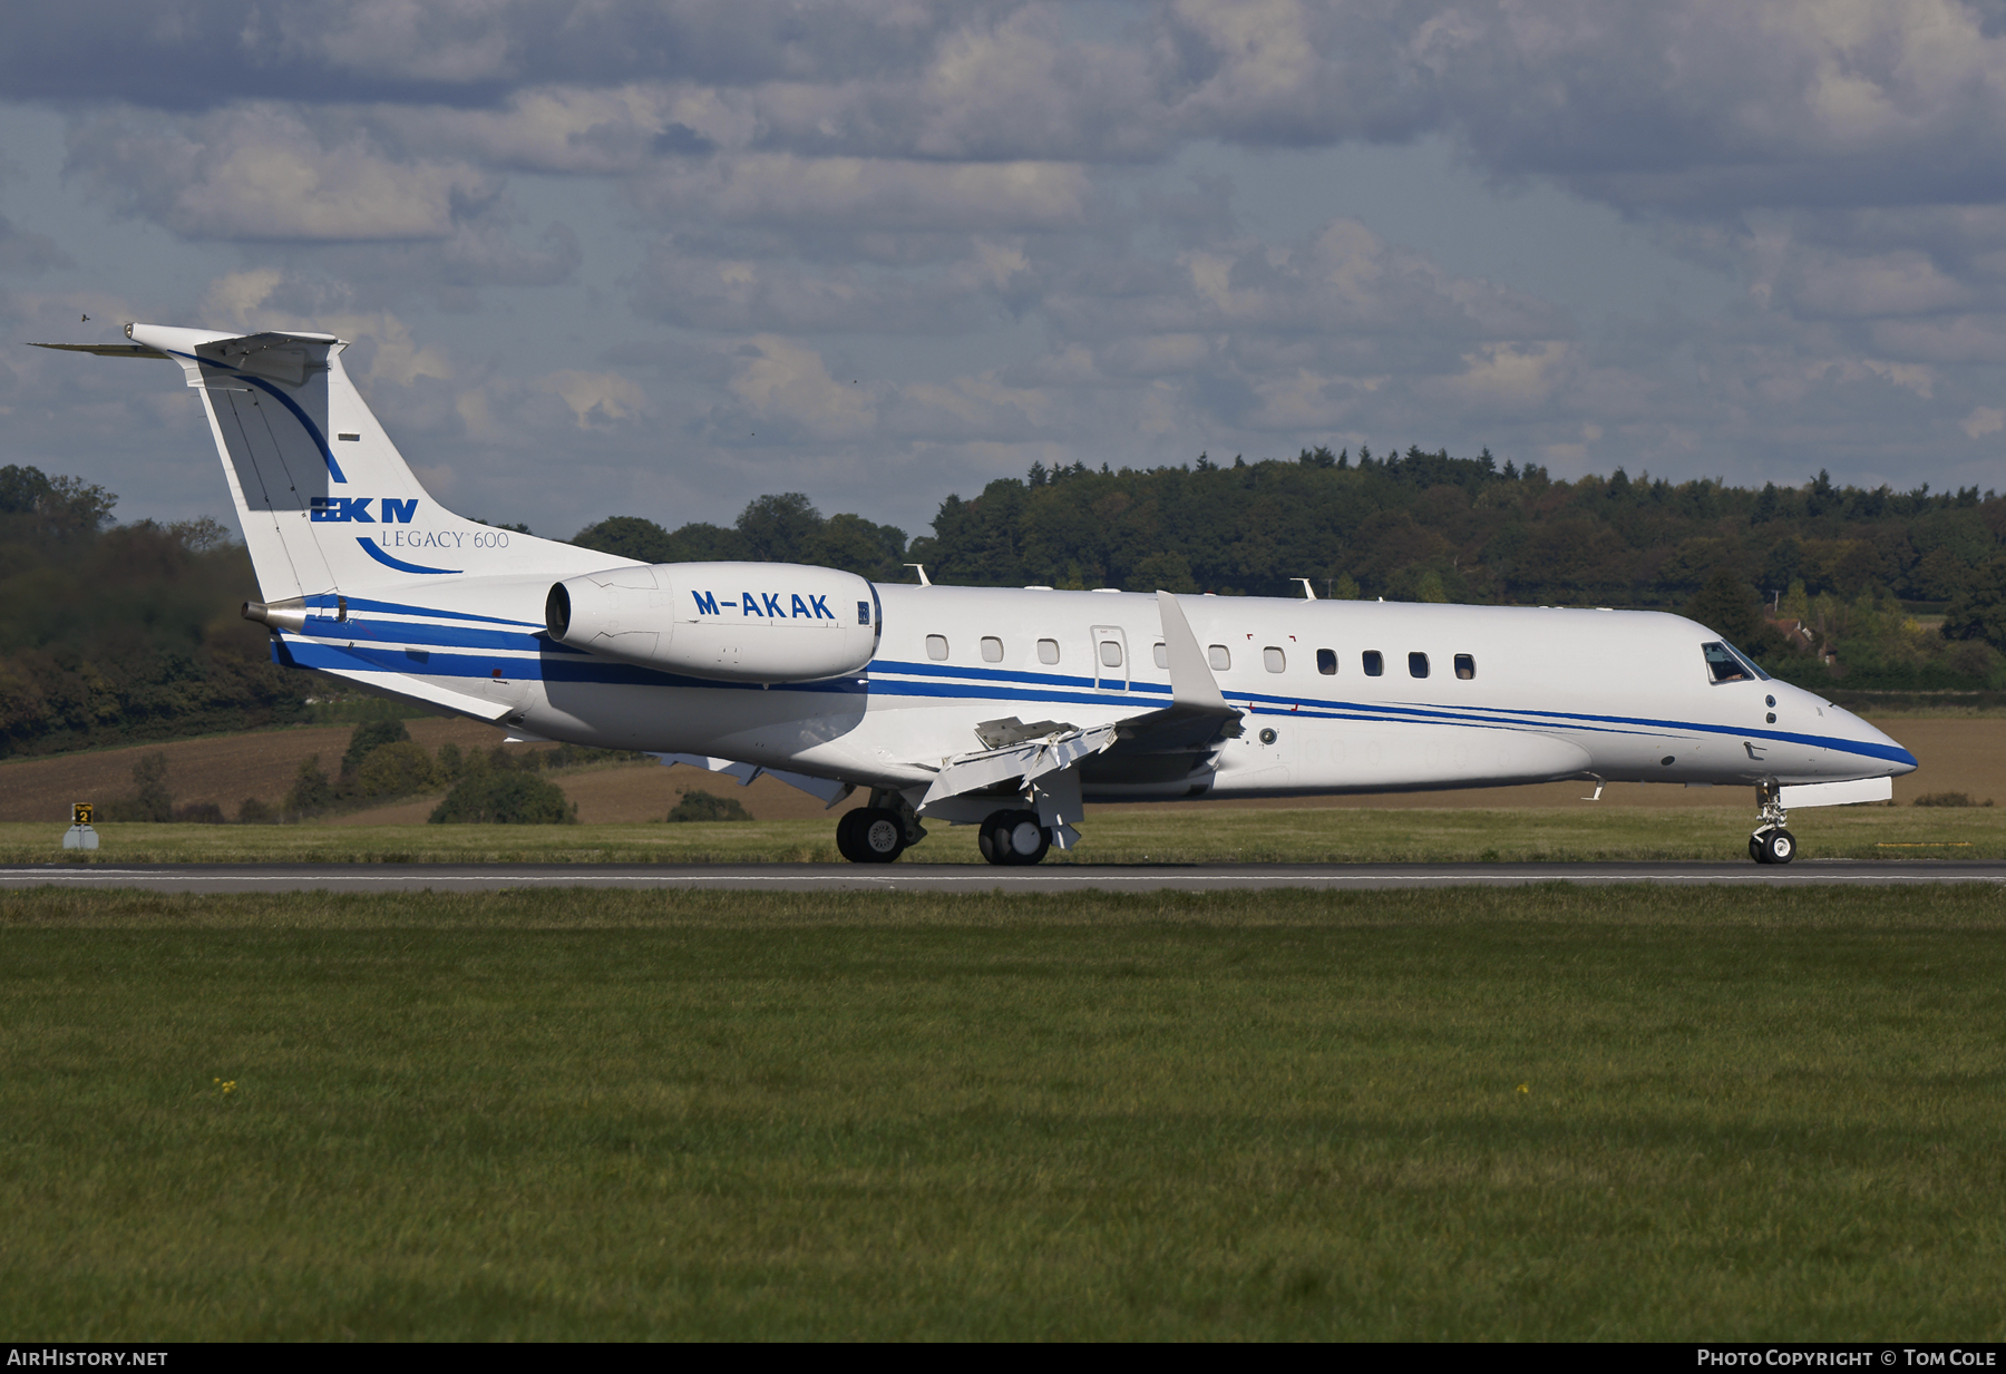
[[[0,895],[0,1328],[2002,1340],[1988,889]]]

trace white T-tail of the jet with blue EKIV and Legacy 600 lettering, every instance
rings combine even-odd
[[[345,339],[166,325],[126,325],[126,337],[132,343],[42,347],[181,363],[203,395],[277,624],[323,598],[628,562],[493,530],[433,501],[349,381]]]

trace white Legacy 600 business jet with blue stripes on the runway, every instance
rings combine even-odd
[[[929,822],[997,865],[1079,842],[1083,802],[1607,782],[1886,800],[1916,758],[1679,616],[887,586],[660,564],[493,530],[411,475],[325,333],[126,325],[42,345],[181,363],[237,501],[273,658],[506,726],[760,772],[891,863]],[[1308,594],[1308,588],[1304,588]]]

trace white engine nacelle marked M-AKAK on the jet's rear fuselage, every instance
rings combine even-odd
[[[690,678],[818,682],[871,662],[879,602],[834,568],[654,564],[554,584],[544,626],[558,644]]]

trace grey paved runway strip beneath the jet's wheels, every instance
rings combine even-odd
[[[150,893],[493,893],[506,889],[662,889],[742,893],[1220,893],[1402,891],[1535,883],[1667,887],[1908,887],[2006,883],[2006,863],[1811,858],[1753,863],[1474,865],[34,865],[0,869],[0,889]]]

